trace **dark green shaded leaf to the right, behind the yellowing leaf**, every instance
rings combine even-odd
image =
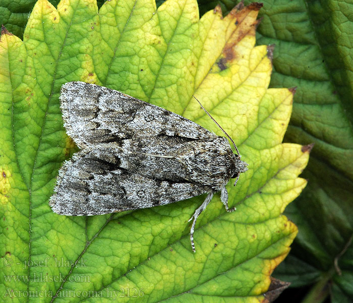
[[[276,276],[292,286],[326,282],[313,286],[316,297],[333,285],[332,302],[353,293],[352,283],[342,283],[353,270],[351,12],[345,1],[267,1],[258,28],[258,43],[276,44],[270,86],[298,87],[285,141],[315,143],[303,173],[308,186],[286,209],[300,230],[291,260],[301,262],[288,259]],[[313,268],[311,279],[302,275]]]

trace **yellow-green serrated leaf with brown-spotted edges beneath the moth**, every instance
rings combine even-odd
[[[281,143],[292,90],[268,89],[271,48],[255,45],[259,5],[198,16],[193,0],[39,0],[24,40],[0,38],[0,236],[4,301],[262,301],[296,226],[282,215],[306,185],[310,147]],[[216,195],[106,216],[52,213],[57,171],[77,150],[58,94],[94,82],[164,107],[238,143],[249,171]],[[273,287],[274,284],[271,284]],[[276,284],[277,285],[277,284]],[[280,285],[280,283],[278,284]],[[282,289],[278,286],[278,289]],[[273,289],[272,295],[273,295]],[[105,297],[105,299],[102,299]],[[120,297],[122,296],[122,297]],[[98,298],[97,298],[98,297]]]

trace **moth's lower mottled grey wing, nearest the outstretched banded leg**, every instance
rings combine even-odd
[[[185,177],[183,165],[173,159],[100,144],[64,163],[49,205],[61,215],[102,215],[170,204],[207,191]]]

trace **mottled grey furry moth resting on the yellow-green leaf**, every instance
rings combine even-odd
[[[236,178],[235,186],[248,164],[222,128],[237,153],[226,137],[106,87],[69,82],[61,88],[60,101],[64,127],[81,150],[59,170],[49,200],[54,213],[103,215],[206,193],[189,220],[195,252],[196,220],[213,194],[220,191],[226,211],[235,210],[228,207],[225,185]]]

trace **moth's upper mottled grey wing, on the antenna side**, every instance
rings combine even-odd
[[[64,126],[83,148],[123,138],[178,136],[207,139],[214,134],[200,125],[119,91],[85,82],[62,86]]]

